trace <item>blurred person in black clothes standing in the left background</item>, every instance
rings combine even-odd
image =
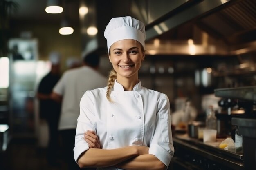
[[[40,120],[45,120],[49,127],[49,142],[47,146],[47,161],[52,166],[57,166],[58,154],[58,120],[61,112],[61,104],[50,98],[52,89],[60,79],[60,54],[52,52],[49,55],[51,71],[42,78],[37,91],[40,103]]]

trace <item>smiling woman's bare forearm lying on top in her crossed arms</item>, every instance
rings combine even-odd
[[[144,154],[148,154],[146,146],[128,146],[109,150],[90,148],[80,155],[77,162],[80,168],[108,167]]]

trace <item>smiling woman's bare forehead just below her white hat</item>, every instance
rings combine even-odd
[[[141,44],[136,41],[136,40],[132,40],[132,39],[125,39],[125,40],[119,40],[115,43],[112,44],[112,46],[110,47],[110,49],[130,49],[132,47],[138,47],[139,49],[141,48]]]

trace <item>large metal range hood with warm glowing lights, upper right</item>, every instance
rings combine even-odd
[[[256,51],[255,0],[180,2],[169,2],[172,11],[154,20],[150,16],[164,13],[166,5],[159,6],[159,1],[153,0],[147,2],[148,20],[144,20],[148,21],[149,54],[240,55]],[[163,10],[153,10],[155,7]],[[190,33],[182,36],[181,31]]]

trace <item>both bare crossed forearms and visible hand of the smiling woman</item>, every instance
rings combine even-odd
[[[166,166],[164,165],[164,163],[162,163],[159,159],[157,159],[157,157],[155,157],[154,155],[148,154],[148,147],[129,146],[129,147],[120,148],[120,149],[101,151],[99,150],[100,149],[99,139],[94,131],[88,130],[87,132],[85,132],[84,139],[89,144],[89,148],[98,149],[98,150],[95,150],[95,152],[97,152],[94,155],[96,158],[96,160],[94,160],[95,164],[99,162],[99,163],[102,163],[102,165],[103,164],[106,165],[111,162],[111,165],[109,164],[108,166],[115,166],[117,168],[122,168],[126,170],[164,170],[166,169]],[[88,154],[91,154],[90,153],[91,151],[94,152],[94,150],[89,149],[87,151]],[[114,152],[117,155],[112,155],[113,154],[112,152]],[[126,154],[124,155],[124,153]],[[107,154],[107,155],[104,155],[104,154]],[[123,157],[120,157],[120,156],[123,156]],[[80,161],[82,160],[83,159],[81,159]],[[93,163],[93,160],[88,160],[88,162]],[[80,166],[80,163],[81,163],[81,166]],[[84,166],[83,161],[80,163],[79,163],[79,166],[82,168]],[[91,165],[91,166],[96,166],[96,165]]]

